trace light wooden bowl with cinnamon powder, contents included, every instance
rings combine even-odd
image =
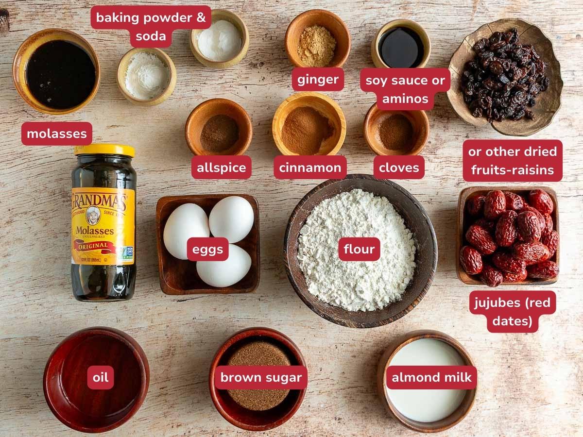
[[[346,119],[328,96],[297,93],[275,111],[272,134],[284,155],[335,155],[346,137]]]

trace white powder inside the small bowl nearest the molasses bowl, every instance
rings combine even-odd
[[[138,52],[129,60],[125,72],[125,88],[139,100],[160,96],[170,82],[170,69],[164,62],[148,52]]]

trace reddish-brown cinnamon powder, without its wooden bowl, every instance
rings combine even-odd
[[[283,145],[299,155],[318,154],[322,142],[334,133],[330,120],[309,106],[291,111],[283,122]]]

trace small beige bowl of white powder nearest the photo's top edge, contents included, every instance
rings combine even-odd
[[[210,68],[229,68],[247,54],[249,31],[236,13],[213,9],[208,29],[192,29],[190,49],[202,65]]]

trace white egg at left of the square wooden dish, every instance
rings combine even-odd
[[[205,211],[194,203],[184,203],[168,217],[164,226],[164,246],[170,255],[188,259],[186,244],[191,237],[209,237],[209,220]]]

